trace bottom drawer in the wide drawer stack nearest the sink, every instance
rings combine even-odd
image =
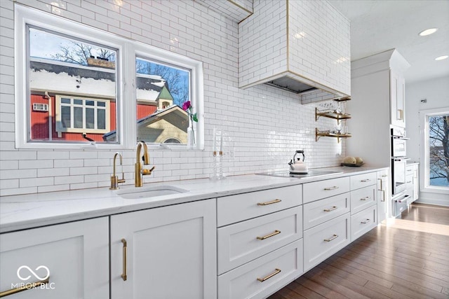
[[[218,277],[218,298],[267,298],[303,273],[302,239]]]

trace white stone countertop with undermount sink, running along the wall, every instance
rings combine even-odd
[[[196,200],[223,197],[257,190],[293,186],[311,181],[335,179],[341,176],[363,174],[384,169],[385,167],[326,167],[320,170],[342,172],[311,178],[290,178],[248,174],[229,176],[224,180],[194,179],[147,183],[140,190],[154,186],[175,186],[188,190],[187,193],[162,195],[134,199],[123,199],[118,192],[132,190],[134,186],[122,186],[119,190],[92,188],[84,190],[59,191],[52,193],[34,193],[29,195],[11,195],[0,197],[0,233],[12,232],[43,225],[78,221],[88,218],[121,214],[129,211],[163,207]]]

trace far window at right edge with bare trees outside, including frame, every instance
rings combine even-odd
[[[449,111],[434,109],[420,112],[423,124],[424,188],[449,190]]]

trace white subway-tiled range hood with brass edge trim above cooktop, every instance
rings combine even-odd
[[[327,1],[255,0],[239,23],[239,87],[267,83],[302,104],[349,96],[349,33]]]

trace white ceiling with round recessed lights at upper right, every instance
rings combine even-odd
[[[396,48],[406,82],[449,76],[449,0],[330,0],[351,21],[351,61]],[[424,29],[438,27],[429,36]]]

